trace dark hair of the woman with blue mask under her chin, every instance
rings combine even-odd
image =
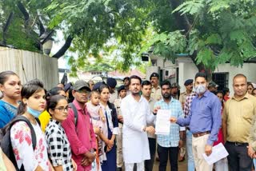
[[[37,92],[41,91],[42,89],[45,90],[43,88],[42,82],[38,79],[34,79],[34,80],[31,80],[30,82],[26,82],[26,84],[22,86],[22,92],[21,92],[22,99],[23,98],[28,99],[34,93],[37,93]],[[17,115],[22,115],[25,112],[26,112],[26,104],[22,101],[18,105]]]

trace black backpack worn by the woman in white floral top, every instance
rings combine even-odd
[[[37,117],[35,117],[35,119],[36,119],[36,121],[38,121],[38,124],[40,125],[39,119]],[[23,165],[22,165],[21,169],[18,169],[18,165],[17,165],[16,159],[14,156],[13,147],[10,142],[10,128],[17,121],[25,121],[26,122],[26,124],[30,127],[30,130],[31,130],[33,149],[37,145],[37,137],[36,137],[36,134],[34,133],[34,128],[31,125],[30,121],[26,117],[17,116],[17,117],[14,117],[14,119],[12,121],[10,121],[10,123],[8,125],[6,125],[3,129],[1,129],[1,131],[2,131],[1,148],[2,148],[3,153],[5,153],[6,156],[10,159],[10,161],[12,161],[16,170],[25,170]]]

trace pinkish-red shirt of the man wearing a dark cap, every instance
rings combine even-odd
[[[82,166],[81,161],[84,153],[90,151],[90,149],[96,149],[94,129],[86,106],[82,109],[76,100],[73,101],[73,104],[78,110],[77,127],[74,125],[74,111],[72,109],[69,109],[68,117],[62,122],[62,127],[65,129],[66,136],[70,141],[72,158],[78,165],[78,171],[89,171],[91,170],[91,165]]]

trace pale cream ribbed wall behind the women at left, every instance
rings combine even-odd
[[[34,78],[41,80],[46,89],[58,84],[58,59],[46,55],[0,47],[0,72],[5,70],[18,74],[22,84]]]

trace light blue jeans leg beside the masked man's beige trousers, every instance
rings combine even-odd
[[[187,153],[187,170],[194,171],[194,157],[192,152],[192,133],[186,130],[186,153]]]

